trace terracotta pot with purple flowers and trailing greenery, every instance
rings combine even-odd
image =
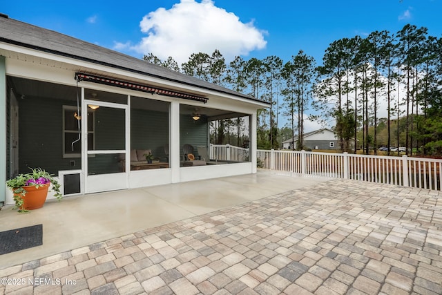
[[[43,207],[50,184],[57,200],[60,201],[63,198],[60,193],[60,184],[52,174],[41,168],[30,169],[32,172],[19,174],[6,182],[6,186],[14,193],[14,209],[18,209],[19,212]]]

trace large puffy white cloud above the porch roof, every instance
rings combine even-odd
[[[169,10],[158,8],[143,17],[140,27],[147,37],[133,50],[163,60],[171,56],[178,64],[188,61],[192,53],[211,55],[215,49],[230,61],[267,44],[265,32],[253,22],[242,23],[211,0],[181,0]]]

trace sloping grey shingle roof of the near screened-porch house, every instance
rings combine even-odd
[[[236,97],[269,105],[267,102],[263,102],[250,95],[244,95],[229,88],[211,84],[175,70],[157,66],[148,61],[124,55],[115,50],[97,46],[53,30],[10,19],[7,15],[2,14],[0,14],[0,42],[165,79],[170,82],[195,86],[209,91],[235,95]]]

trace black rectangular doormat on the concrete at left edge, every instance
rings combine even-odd
[[[43,245],[43,225],[0,232],[0,255]]]

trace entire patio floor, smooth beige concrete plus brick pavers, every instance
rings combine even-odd
[[[439,191],[260,172],[0,211],[37,223],[0,294],[442,294]]]

